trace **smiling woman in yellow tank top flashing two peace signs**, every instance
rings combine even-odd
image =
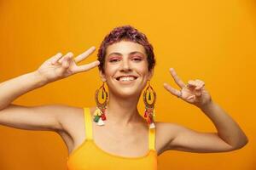
[[[170,122],[154,122],[156,95],[149,81],[154,72],[153,47],[132,26],[120,26],[103,40],[98,60],[77,65],[94,52],[89,48],[73,58],[56,54],[37,71],[0,84],[0,124],[9,127],[49,130],[67,145],[69,169],[156,169],[157,156],[166,150],[224,152],[247,144],[247,136],[225,111],[212,101],[201,80],[185,84],[174,69],[172,77],[181,88],[164,88],[206,114],[218,133],[200,133]],[[49,82],[89,71],[98,66],[102,87],[96,90],[96,106],[13,105],[13,100]],[[105,85],[108,86],[108,92]],[[143,93],[145,113],[139,115]]]

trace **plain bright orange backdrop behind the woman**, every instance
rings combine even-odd
[[[238,122],[249,139],[241,150],[226,153],[166,151],[159,156],[159,169],[253,170],[255,9],[253,0],[2,0],[0,81],[35,71],[57,52],[80,54],[92,45],[98,48],[115,26],[135,26],[154,45],[157,64],[151,83],[158,95],[156,121],[177,122],[201,132],[216,131],[203,112],[163,88],[163,82],[178,88],[168,71],[173,67],[183,82],[206,82],[212,99]],[[82,64],[95,59],[96,53]],[[52,82],[14,103],[92,106],[101,84],[97,69],[93,69]],[[139,106],[143,111],[142,100]],[[67,149],[56,133],[0,126],[0,138],[1,170],[66,169]]]

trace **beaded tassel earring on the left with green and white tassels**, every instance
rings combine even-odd
[[[108,103],[108,93],[104,87],[105,82],[103,82],[102,86],[96,90],[95,100],[96,100],[96,111],[94,113],[94,122],[97,122],[97,125],[102,126],[105,123],[103,121],[107,120],[106,117],[106,108]],[[100,94],[100,97],[99,97]]]

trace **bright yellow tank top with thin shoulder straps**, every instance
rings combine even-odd
[[[92,119],[90,109],[84,108],[86,138],[67,157],[68,170],[131,170],[157,169],[157,152],[154,149],[155,129],[148,127],[148,153],[145,156],[117,156],[102,150],[92,139]]]

